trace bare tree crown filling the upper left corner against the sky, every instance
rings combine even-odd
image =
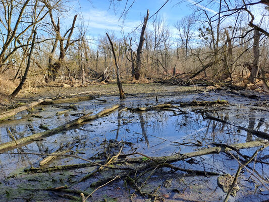
[[[33,32],[28,30],[42,21],[48,12],[38,0],[1,0],[0,13],[0,71],[3,73],[7,70],[3,70],[3,66],[11,62],[16,51],[29,45]]]

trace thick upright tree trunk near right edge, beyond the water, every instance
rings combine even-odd
[[[256,78],[258,76],[259,72],[259,38],[260,33],[258,30],[254,30],[254,37],[253,37],[253,55],[254,55],[254,61],[251,68],[251,73],[249,76],[249,82],[255,83]]]

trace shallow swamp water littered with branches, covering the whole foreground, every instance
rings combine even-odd
[[[119,159],[132,158],[134,156],[124,155],[136,152],[148,157],[161,157],[190,153],[203,147],[213,147],[213,142],[231,145],[260,139],[249,132],[239,130],[238,127],[204,119],[202,114],[198,113],[201,111],[206,111],[214,117],[219,117],[237,126],[266,133],[269,131],[269,108],[266,96],[256,100],[220,91],[158,96],[158,102],[156,102],[155,95],[146,94],[128,96],[125,100],[119,100],[116,96],[103,96],[100,99],[105,99],[107,102],[89,100],[76,103],[73,105],[78,109],[77,111],[70,110],[61,115],[56,115],[56,113],[65,109],[53,106],[38,106],[32,112],[22,112],[16,115],[14,120],[0,123],[0,143],[12,141],[12,136],[15,139],[29,136],[44,131],[44,128],[52,129],[77,118],[71,114],[89,112],[95,114],[117,104],[127,108],[137,108],[171,101],[179,103],[189,102],[193,99],[225,99],[230,102],[230,105],[180,107],[187,114],[174,108],[132,112],[130,110],[122,111],[123,107],[121,107],[105,117],[9,150],[7,153],[22,154],[0,155],[0,201],[74,200],[74,198],[68,199],[68,195],[63,192],[44,189],[67,185],[70,189],[80,189],[91,193],[96,188],[90,187],[91,183],[125,172],[124,170],[100,171],[88,179],[76,183],[98,167],[25,173],[25,168],[38,167],[39,161],[44,156],[23,153],[51,154],[60,147],[71,147],[73,155],[92,161],[101,161],[103,164],[107,158],[117,155],[121,148],[123,157],[120,156]],[[69,105],[61,104],[61,106]],[[179,106],[179,104],[175,105]],[[240,151],[243,155],[252,156],[256,149],[248,148]],[[236,153],[231,153],[236,156]],[[268,155],[268,148],[265,148],[257,156],[257,159],[265,163],[255,163],[255,170],[265,180],[263,182],[267,186],[266,180],[269,181]],[[141,156],[135,155],[135,157]],[[143,158],[148,161],[148,158]],[[73,157],[60,157],[44,167],[80,163],[85,163],[85,161]],[[173,165],[185,169],[231,175],[234,175],[238,169],[238,162],[226,153],[190,158],[173,163]],[[249,166],[253,168],[254,164],[250,163]],[[144,173],[137,172],[130,177],[136,179],[139,187],[143,185],[140,191],[135,190],[130,179],[124,177],[99,188],[92,194],[92,197],[88,198],[88,201],[151,201],[154,199],[156,201],[223,201],[226,196],[226,193],[217,184],[218,176],[186,174],[170,168],[155,168],[145,170]],[[240,190],[235,197],[230,196],[229,201],[266,201],[269,198],[268,190],[246,169],[243,168],[237,182]],[[79,197],[79,194],[71,195]]]

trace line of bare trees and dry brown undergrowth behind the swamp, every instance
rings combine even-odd
[[[109,3],[115,8],[126,1]],[[71,13],[69,4],[65,0],[0,1],[0,76],[24,79],[31,85],[58,78],[85,84],[92,78],[117,75],[136,80],[141,76],[262,80],[267,85],[267,0],[206,2],[206,7],[193,7],[193,14],[173,26],[158,13],[145,11],[141,24],[122,34],[125,37],[109,32],[119,71],[105,33],[92,45],[81,16],[64,24]]]

